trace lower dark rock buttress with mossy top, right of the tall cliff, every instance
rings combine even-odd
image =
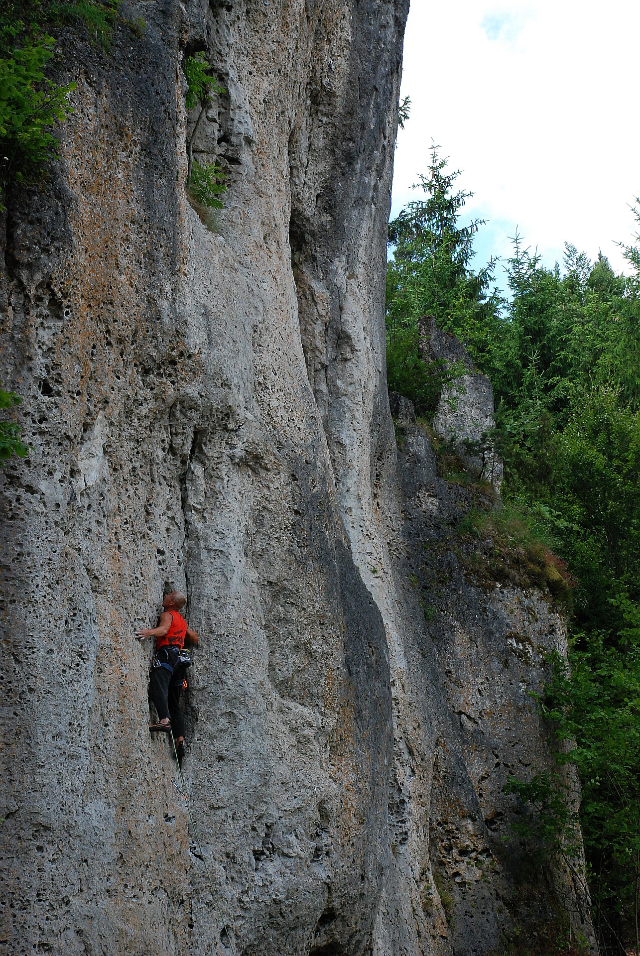
[[[470,391],[459,397],[457,414],[467,402],[474,407],[478,390]],[[398,789],[403,810],[418,811],[427,831],[421,871],[415,851],[399,852],[422,909],[414,905],[417,934],[428,942],[418,951],[510,953],[524,946],[556,953],[569,927],[584,951],[596,951],[584,859],[515,838],[513,824],[532,820],[504,793],[510,777],[528,782],[557,772],[551,728],[531,695],[541,694],[550,676],[549,652],[566,655],[563,614],[547,588],[486,573],[496,544],[488,536],[470,542],[463,522],[471,508],[489,510],[495,490],[488,480],[443,478],[410,403],[395,402],[394,410],[404,507],[391,551],[410,615],[411,683],[425,682],[422,710],[430,718],[420,745],[411,741]],[[484,413],[493,417],[493,408],[485,405]],[[439,408],[435,421],[445,414]],[[425,764],[427,785],[416,793],[414,771]],[[577,781],[563,772],[566,799],[577,809]]]

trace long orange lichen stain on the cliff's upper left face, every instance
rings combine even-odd
[[[56,353],[68,390],[78,392],[77,398],[86,397],[92,369],[95,398],[111,398],[122,358],[117,346],[122,351],[140,324],[139,290],[144,283],[135,250],[143,237],[136,224],[142,225],[145,216],[133,188],[139,152],[126,121],[116,120],[80,82],[73,133],[62,147],[74,197],[68,216],[76,244],[71,262],[65,263],[69,309]]]

